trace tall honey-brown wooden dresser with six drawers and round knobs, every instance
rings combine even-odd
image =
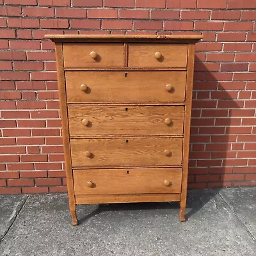
[[[72,225],[77,204],[180,202],[202,36],[47,35],[55,42]]]

